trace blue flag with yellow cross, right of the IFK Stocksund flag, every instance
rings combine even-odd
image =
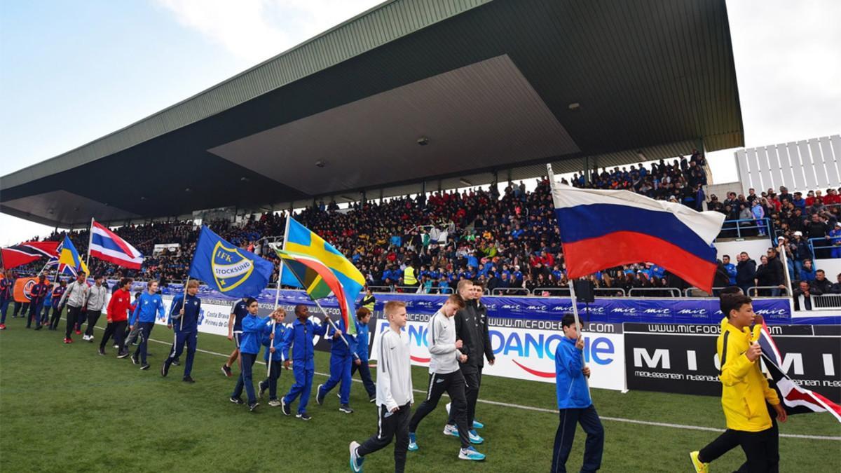
[[[324,238],[319,237],[315,232],[310,231],[309,228],[301,225],[293,218],[289,218],[286,236],[284,237],[283,250],[290,253],[297,253],[299,255],[309,256],[330,268],[331,272],[336,275],[342,288],[345,290],[346,309],[348,314],[356,312],[354,301],[357,295],[365,287],[365,277],[359,272],[356,266],[333,245],[324,241]],[[294,287],[302,287],[298,278],[291,271],[283,271],[283,284],[288,284]],[[317,286],[320,284],[316,284]],[[324,286],[321,286],[323,288]],[[303,288],[308,290],[308,293],[315,290],[315,293],[321,292],[315,287]],[[354,324],[350,324],[348,330],[352,330]]]

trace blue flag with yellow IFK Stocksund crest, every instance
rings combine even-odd
[[[272,278],[274,265],[226,242],[207,226],[198,234],[190,277],[230,297],[257,297]]]

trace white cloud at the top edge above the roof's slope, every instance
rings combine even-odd
[[[257,64],[362,13],[373,0],[156,0],[184,26]]]

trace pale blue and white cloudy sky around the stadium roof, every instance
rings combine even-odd
[[[0,175],[130,125],[378,3],[0,2]],[[733,0],[727,9],[745,146],[841,132],[841,2]],[[714,182],[737,179],[733,151],[708,154]],[[50,231],[0,214],[0,246]]]

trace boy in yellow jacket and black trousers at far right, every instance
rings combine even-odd
[[[706,470],[706,464],[717,458],[714,450],[721,449],[723,444],[742,447],[747,461],[739,472],[766,473],[779,469],[779,438],[766,401],[780,422],[785,422],[786,414],[776,391],[770,388],[759,369],[762,348],[751,340],[750,325],[756,316],[751,302],[745,295],[722,296],[722,312],[727,318],[722,321],[717,351],[727,431],[701,452],[693,452],[697,471]]]

